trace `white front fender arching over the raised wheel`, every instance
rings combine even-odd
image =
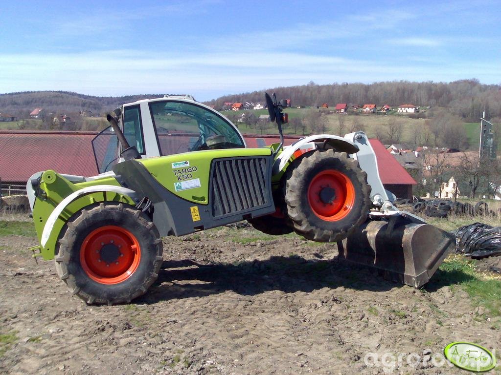
[[[273,164],[273,174],[281,172],[289,162],[289,159],[294,155],[294,152],[296,152],[302,146],[305,146],[307,143],[311,142],[323,142],[323,141],[326,141],[329,145],[334,147],[336,151],[346,152],[347,154],[358,152],[358,146],[353,141],[345,139],[338,135],[332,135],[332,134],[310,135],[284,148],[284,150],[277,157],[277,160],[275,160],[275,163]]]

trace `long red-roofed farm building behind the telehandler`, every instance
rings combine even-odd
[[[97,132],[94,131],[0,130],[2,183],[26,185],[33,173],[47,169],[81,176],[97,175],[98,169],[91,144],[96,135]],[[178,134],[178,138],[175,140],[176,144],[189,141],[186,134]],[[297,135],[285,135],[284,145],[290,145],[300,138],[302,137]],[[264,147],[280,142],[276,134],[244,134],[244,139],[248,147]],[[416,184],[414,179],[379,140],[370,139],[370,142],[376,153],[384,187],[397,197],[412,197],[412,186]],[[19,150],[26,150],[26,155],[20,155]]]

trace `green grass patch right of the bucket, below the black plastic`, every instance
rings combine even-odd
[[[473,305],[483,306],[490,316],[501,316],[501,280],[478,273],[474,260],[450,256],[437,273],[442,283],[457,284],[466,291]]]

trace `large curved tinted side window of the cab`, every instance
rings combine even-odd
[[[207,108],[179,101],[154,101],[149,105],[162,155],[244,147],[238,131]]]

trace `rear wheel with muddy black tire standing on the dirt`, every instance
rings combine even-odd
[[[114,229],[115,231],[113,231]],[[89,304],[130,302],[144,294],[158,277],[163,250],[158,230],[143,212],[128,204],[107,202],[84,208],[68,221],[63,230],[64,233],[59,240],[55,256],[57,273],[73,294]],[[109,231],[107,232],[107,230]],[[126,261],[125,266],[127,266],[131,258],[136,259],[131,262],[132,268],[128,268],[129,270],[113,279],[107,278],[109,275],[99,274],[100,271],[97,273],[89,271],[91,268],[87,265],[86,260],[81,261],[82,251],[84,254],[94,251],[94,247],[89,249],[90,244],[93,243],[89,237],[93,240],[104,238],[92,237],[92,233],[99,231],[102,231],[101,234],[96,235],[130,233],[130,238],[136,240],[134,244],[137,243],[137,246],[124,245],[120,249],[121,245],[112,244],[114,241],[111,240],[109,244],[107,243],[100,249],[96,247],[95,252],[99,253],[96,255],[99,258],[98,261],[106,266],[111,264],[112,267],[115,267],[114,264],[119,264],[120,260]],[[123,235],[124,238],[129,238],[127,234]],[[112,237],[110,236],[110,238]],[[119,242],[117,240],[115,243]],[[103,242],[100,245],[103,245]],[[103,249],[106,246],[110,246],[111,249],[110,247],[106,249],[105,256]],[[123,257],[123,253],[126,251],[128,252],[123,260],[120,256]],[[101,258],[105,259],[104,263],[101,263]],[[92,261],[95,262],[95,259],[90,260],[89,264]],[[122,278],[124,279],[122,280]]]

